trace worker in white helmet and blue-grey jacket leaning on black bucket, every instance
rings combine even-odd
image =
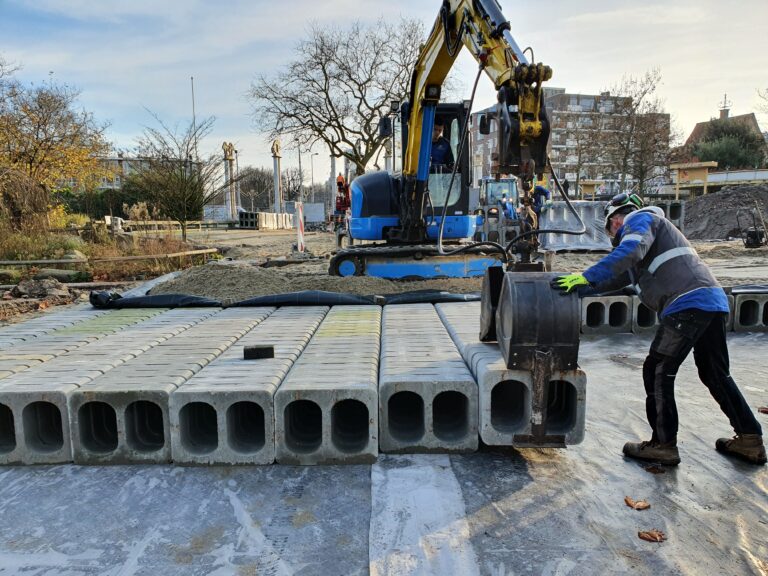
[[[625,444],[624,454],[671,466],[680,463],[675,376],[693,350],[699,378],[736,432],[732,439],[718,439],[715,448],[765,464],[762,429],[729,372],[728,299],[709,267],[660,208],[644,208],[635,194],[614,196],[605,209],[605,228],[613,252],[583,274],[560,276],[552,285],[566,292],[586,286],[605,292],[632,283],[643,304],[659,314],[643,364],[652,435],[649,441]]]

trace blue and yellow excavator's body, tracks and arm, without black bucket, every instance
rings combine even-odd
[[[511,258],[530,264],[531,235],[506,246],[469,241],[478,219],[469,205],[467,124],[482,73],[497,90],[495,111],[480,120],[482,133],[496,126],[495,176],[517,176],[525,196],[547,167],[550,128],[542,87],[552,70],[529,61],[510,29],[496,0],[443,1],[412,73],[409,99],[400,106],[402,173],[371,172],[352,182],[348,234],[368,243],[337,252],[332,275],[467,277]],[[469,105],[441,103],[442,84],[462,47],[478,62],[473,97]],[[457,145],[453,166],[432,165],[436,120]],[[390,134],[391,119],[383,118],[380,135]]]

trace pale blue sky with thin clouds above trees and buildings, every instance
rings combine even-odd
[[[660,94],[684,135],[718,114],[728,93],[732,114],[756,111],[768,88],[768,2],[738,0],[500,1],[522,47],[554,69],[550,86],[596,93],[622,75],[661,69]],[[86,110],[111,124],[108,136],[129,149],[147,109],[169,123],[191,120],[190,77],[198,118],[215,116],[204,143],[231,141],[240,166],[270,166],[269,143],[251,125],[245,93],[259,74],[289,62],[311,22],[344,27],[379,16],[417,18],[429,28],[440,0],[0,0],[0,55],[22,66],[17,77],[49,75],[82,91]],[[455,76],[468,91],[475,65],[466,54]],[[494,102],[481,80],[476,109]],[[759,115],[768,130],[768,115]],[[328,173],[324,151],[315,180]],[[296,163],[287,152],[283,165]]]

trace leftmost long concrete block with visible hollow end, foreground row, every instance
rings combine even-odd
[[[99,340],[82,348],[76,348],[72,352],[66,352],[0,380],[0,419],[5,417],[15,423],[11,427],[7,422],[0,422],[0,428],[14,431],[12,444],[15,446],[13,453],[0,454],[0,464],[42,464],[58,463],[66,458],[71,460],[71,426],[66,396],[78,387],[92,382],[94,378],[109,372],[125,361],[126,357],[133,358],[133,354],[141,354],[143,347],[147,346],[147,341],[152,344],[159,343],[177,333],[179,327],[187,327],[190,323],[199,322],[213,313],[165,311],[167,316],[162,320],[157,319],[156,310],[143,313],[134,310],[131,314],[121,314],[117,316],[117,321],[125,321],[127,325],[119,334],[104,334]],[[145,321],[139,322],[137,319],[140,318]],[[43,338],[41,337],[35,345],[39,345]],[[100,353],[80,355],[81,350],[90,349],[91,346]],[[32,408],[29,408],[30,406]],[[26,420],[34,422],[34,426],[17,425],[25,421],[25,414],[32,415]],[[29,441],[25,438],[27,434],[31,435]],[[56,450],[49,449],[45,442],[37,440],[37,437],[43,436],[62,439],[64,445]],[[58,440],[55,444],[58,445],[57,443]]]

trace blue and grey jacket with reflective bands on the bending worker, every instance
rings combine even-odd
[[[598,292],[633,285],[661,316],[688,309],[728,312],[728,298],[709,267],[656,206],[630,212],[618,246],[584,277]]]

